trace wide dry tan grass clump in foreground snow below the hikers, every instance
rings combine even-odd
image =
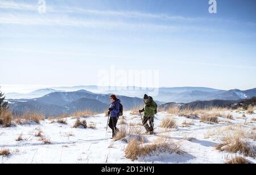
[[[154,152],[183,153],[177,145],[171,144],[167,139],[158,138],[153,143],[143,145],[138,140],[132,139],[125,149],[125,157],[134,161],[138,157],[151,155]]]

